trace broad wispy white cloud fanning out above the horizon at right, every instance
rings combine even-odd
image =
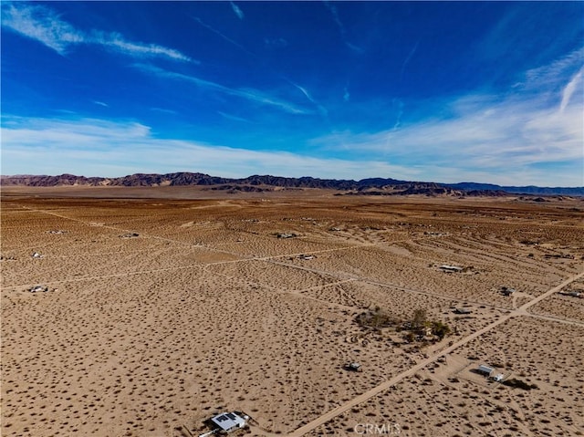
[[[524,183],[582,185],[583,139],[581,109],[568,106],[560,113],[523,103],[476,108],[451,120],[423,120],[401,129],[337,132],[313,143],[424,168],[426,180],[443,174],[442,182],[459,182],[461,174],[482,173],[488,178],[479,182],[516,184],[523,172],[531,177]],[[546,167],[554,162],[572,162],[571,172],[550,174]],[[445,168],[451,172],[444,173]]]

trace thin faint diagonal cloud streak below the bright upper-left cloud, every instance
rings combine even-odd
[[[291,102],[283,99],[278,99],[274,96],[270,96],[262,91],[254,88],[228,88],[224,85],[212,82],[210,80],[205,80],[203,78],[197,78],[195,76],[184,75],[182,73],[176,73],[173,71],[168,71],[162,68],[158,68],[152,65],[146,64],[136,64],[136,68],[140,68],[141,71],[154,74],[162,78],[173,78],[177,80],[183,80],[185,82],[192,83],[197,87],[208,89],[211,91],[226,94],[228,96],[234,96],[240,99],[246,99],[248,101],[270,106],[276,109],[283,110],[290,114],[311,114],[313,111],[309,109],[302,108]]]

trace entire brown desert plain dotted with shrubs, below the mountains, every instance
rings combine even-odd
[[[3,188],[2,435],[584,435],[584,199],[335,194]]]

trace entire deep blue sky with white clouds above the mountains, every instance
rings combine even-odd
[[[584,185],[584,2],[2,2],[2,174]]]

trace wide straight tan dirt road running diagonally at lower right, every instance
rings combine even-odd
[[[301,437],[305,434],[308,434],[308,432],[312,432],[312,431],[316,430],[319,426],[324,425],[326,422],[334,419],[335,417],[339,416],[343,412],[348,411],[349,409],[359,405],[361,402],[370,400],[370,398],[378,395],[379,393],[381,393],[381,391],[388,390],[389,388],[391,388],[391,386],[397,384],[401,380],[412,376],[415,372],[417,372],[420,369],[423,369],[428,364],[431,364],[433,361],[435,361],[436,359],[439,359],[443,355],[449,354],[454,349],[460,348],[461,346],[465,345],[469,341],[474,340],[474,338],[478,338],[478,337],[482,336],[483,334],[485,334],[485,332],[488,332],[491,329],[496,328],[497,326],[501,325],[502,323],[505,323],[509,318],[516,317],[516,316],[525,316],[527,308],[533,307],[538,302],[541,302],[543,299],[550,297],[554,293],[558,293],[558,291],[561,290],[564,286],[568,286],[568,284],[578,280],[582,276],[584,276],[584,272],[581,272],[575,276],[568,277],[568,279],[566,279],[564,282],[562,282],[558,286],[555,286],[555,287],[549,289],[543,295],[536,297],[536,298],[530,300],[529,302],[527,302],[526,304],[524,304],[523,306],[518,307],[516,310],[513,310],[510,313],[507,313],[506,315],[502,316],[501,318],[499,318],[495,322],[491,323],[490,325],[487,325],[485,328],[479,329],[478,331],[474,332],[473,334],[470,334],[467,337],[461,338],[456,343],[454,343],[452,346],[449,346],[448,348],[437,352],[436,354],[434,354],[433,356],[431,356],[427,359],[423,359],[422,361],[420,361],[418,364],[416,364],[411,369],[408,369],[408,370],[401,372],[399,375],[396,375],[395,377],[391,378],[391,380],[386,380],[386,381],[382,382],[380,385],[378,385],[377,387],[375,387],[369,391],[366,391],[365,393],[361,394],[360,396],[357,396],[356,398],[353,398],[351,401],[348,401],[342,405],[339,405],[339,407],[324,413],[323,415],[319,416],[314,421],[309,421],[306,425],[301,426],[296,431],[288,434],[288,437]]]

